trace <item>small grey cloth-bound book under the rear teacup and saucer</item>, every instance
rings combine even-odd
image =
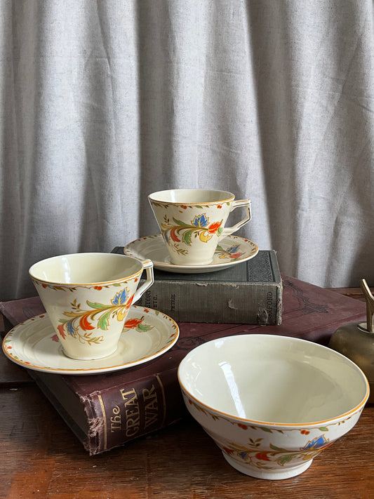
[[[123,253],[123,246],[112,253]],[[281,324],[282,291],[276,253],[262,250],[251,260],[218,272],[180,274],[154,269],[154,284],[137,305],[180,322]]]

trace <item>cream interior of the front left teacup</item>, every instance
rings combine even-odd
[[[135,258],[115,253],[74,253],[41,260],[30,267],[34,279],[58,284],[100,284],[142,270]]]

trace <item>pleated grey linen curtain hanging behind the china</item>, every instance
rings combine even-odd
[[[0,5],[0,299],[156,234],[171,187],[250,197],[283,274],[374,285],[372,1]]]

